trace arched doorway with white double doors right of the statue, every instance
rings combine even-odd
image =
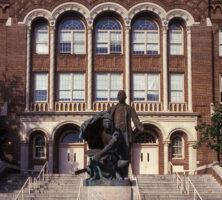
[[[159,144],[157,136],[151,131],[138,133],[134,137],[133,173],[159,173]]]

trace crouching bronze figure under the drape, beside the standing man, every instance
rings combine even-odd
[[[122,179],[119,171],[129,161],[123,160],[121,146],[124,145],[121,130],[112,127],[112,117],[107,112],[99,113],[86,121],[80,130],[80,137],[87,141],[85,152],[90,161],[85,170],[94,179]],[[76,172],[83,172],[79,170]]]

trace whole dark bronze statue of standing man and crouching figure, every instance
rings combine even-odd
[[[76,174],[88,172],[90,179],[128,179],[130,147],[132,143],[131,119],[143,131],[136,111],[125,103],[126,94],[119,91],[119,103],[108,112],[101,112],[83,123],[80,137],[87,141],[90,157],[86,169]]]

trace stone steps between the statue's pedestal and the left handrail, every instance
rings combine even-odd
[[[81,176],[72,174],[48,174],[45,181],[39,182],[37,188],[28,193],[24,200],[75,200],[78,197]]]

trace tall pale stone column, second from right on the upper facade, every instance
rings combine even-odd
[[[163,31],[163,111],[168,111],[167,26]]]

